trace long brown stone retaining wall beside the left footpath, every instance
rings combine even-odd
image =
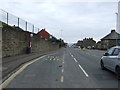
[[[29,47],[30,32],[20,28],[5,26],[2,28],[2,57],[21,55],[26,53]],[[52,44],[40,36],[34,34],[31,38],[32,53],[51,51],[59,48],[58,44]]]

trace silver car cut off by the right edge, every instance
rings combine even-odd
[[[120,46],[110,48],[100,60],[101,69],[109,69],[116,73],[120,80]]]

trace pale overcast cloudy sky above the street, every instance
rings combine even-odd
[[[116,28],[117,0],[0,0],[0,9],[67,43],[99,41]]]

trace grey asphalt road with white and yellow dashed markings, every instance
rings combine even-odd
[[[103,53],[63,48],[29,65],[6,88],[118,88],[115,74],[100,68]]]

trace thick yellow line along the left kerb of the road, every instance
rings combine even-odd
[[[30,64],[44,58],[46,55],[39,57],[37,59],[34,59],[33,61],[25,63],[18,71],[13,73],[8,79],[6,79],[2,84],[0,84],[0,87],[5,88],[18,74],[20,74],[25,68],[27,68]]]

